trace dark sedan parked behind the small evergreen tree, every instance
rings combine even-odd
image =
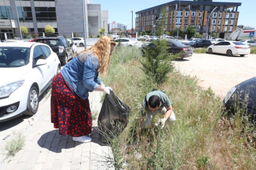
[[[193,55],[193,49],[190,46],[184,45],[180,42],[176,41],[168,41],[168,50],[170,54],[180,54],[176,59],[183,59],[185,57],[191,57]],[[145,45],[142,47],[142,53],[144,53],[144,50],[147,50],[147,48],[152,49],[155,47],[154,43],[149,43],[148,45]]]

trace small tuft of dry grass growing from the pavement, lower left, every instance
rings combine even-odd
[[[25,145],[25,136],[18,132],[14,133],[14,137],[11,140],[6,142],[4,146],[4,150],[6,150],[6,157],[15,156],[18,151],[22,149]]]

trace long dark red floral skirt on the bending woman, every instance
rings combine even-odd
[[[92,133],[88,98],[82,99],[68,86],[61,73],[52,81],[51,122],[59,135],[81,137]]]

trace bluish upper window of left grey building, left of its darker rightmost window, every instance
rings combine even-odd
[[[18,17],[21,23],[33,22],[32,9],[27,6],[17,6]]]

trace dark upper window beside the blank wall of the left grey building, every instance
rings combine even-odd
[[[55,7],[35,7],[37,22],[56,22]]]

